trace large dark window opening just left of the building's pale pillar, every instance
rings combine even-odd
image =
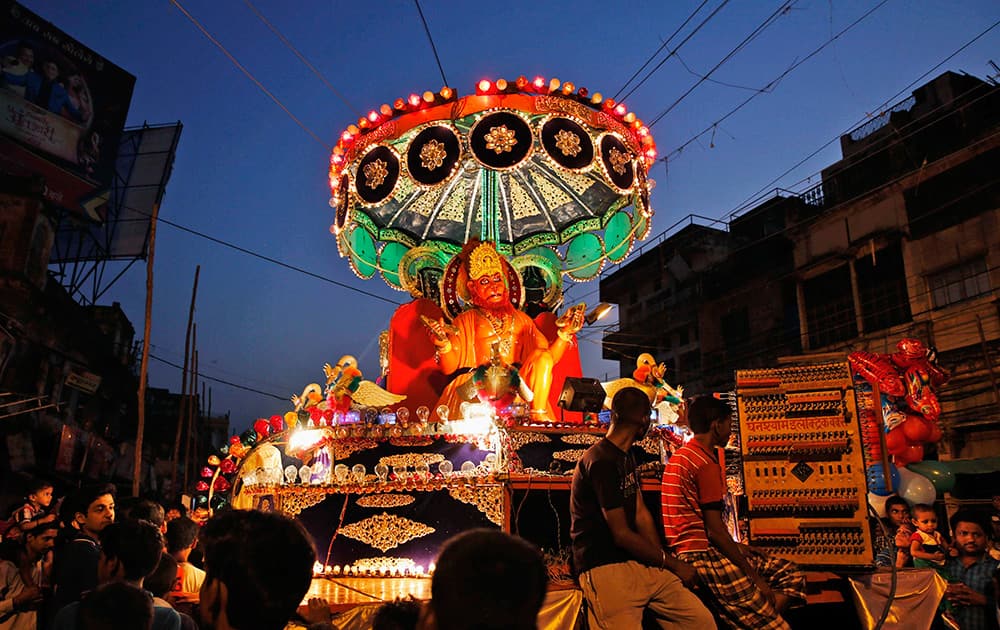
[[[851,272],[841,265],[802,283],[809,347],[819,348],[858,336]]]

